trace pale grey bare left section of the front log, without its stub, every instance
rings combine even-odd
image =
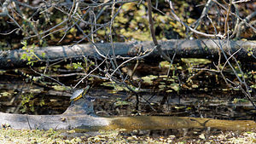
[[[106,118],[89,115],[23,115],[0,112],[0,123],[17,130],[69,130],[80,126],[106,126]]]

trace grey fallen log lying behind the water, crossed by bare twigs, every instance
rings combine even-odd
[[[183,40],[172,39],[160,41],[163,51],[172,57],[176,53],[176,58],[207,58],[218,60],[218,49],[221,47],[225,52],[230,51],[238,60],[256,61],[256,43],[247,41],[227,41],[227,40]],[[111,43],[96,43],[98,51],[102,55],[113,56]],[[115,55],[135,56],[137,52],[145,52],[154,49],[152,42],[132,42],[132,43],[113,43]],[[17,49],[9,51],[0,51],[0,69],[9,69],[26,66],[27,61],[21,60],[21,55],[26,54],[26,50]],[[46,61],[55,60],[78,60],[87,56],[89,58],[101,58],[96,52],[93,44],[79,44],[73,46],[52,46],[46,48],[35,48],[34,54],[40,59],[37,63],[42,66]],[[42,55],[45,54],[43,57]],[[249,56],[250,55],[250,56]],[[253,55],[253,56],[252,56]],[[148,57],[160,57],[157,50]]]

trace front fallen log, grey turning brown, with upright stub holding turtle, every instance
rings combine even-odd
[[[218,120],[211,118],[137,116],[97,117],[91,101],[80,99],[60,115],[22,115],[0,112],[2,127],[16,130],[170,130],[215,128],[218,130],[256,130],[250,120]]]

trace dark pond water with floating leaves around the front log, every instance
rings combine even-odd
[[[137,103],[137,97],[131,92],[118,86],[114,89],[109,82],[94,79],[90,84],[92,88],[88,95],[96,98],[94,101],[96,114],[102,117],[143,115],[255,120],[256,110],[250,101],[247,101],[240,90],[228,88],[220,76],[212,72],[195,72],[194,75],[186,75],[188,72],[177,66],[172,76],[166,77],[164,74],[166,72],[163,72],[166,70],[163,68],[149,67],[151,73],[155,75],[142,71],[148,69],[147,65],[141,66],[135,74],[137,78],[142,78],[142,87],[137,93],[140,96],[139,103]],[[27,70],[25,72],[29,73]],[[44,79],[47,82],[45,84],[26,81],[26,78],[21,78],[14,71],[1,72],[0,77],[1,112],[60,114],[70,106],[69,99],[72,93],[68,90],[55,89],[56,84],[49,80]],[[230,76],[230,78],[233,77]],[[77,77],[59,80],[65,81],[67,85],[74,85],[77,81],[71,79],[77,79]],[[193,82],[189,82],[188,79],[193,79]],[[187,82],[182,82],[183,84],[178,82],[184,80]],[[253,79],[249,79],[249,82],[253,84]],[[85,85],[81,84],[80,88]],[[254,94],[255,89],[252,91],[252,95]],[[255,97],[253,100],[255,101]],[[119,132],[119,135],[144,138],[163,136],[175,140],[194,141],[198,138],[208,140],[212,135],[236,136],[240,132],[189,128],[132,130]]]

